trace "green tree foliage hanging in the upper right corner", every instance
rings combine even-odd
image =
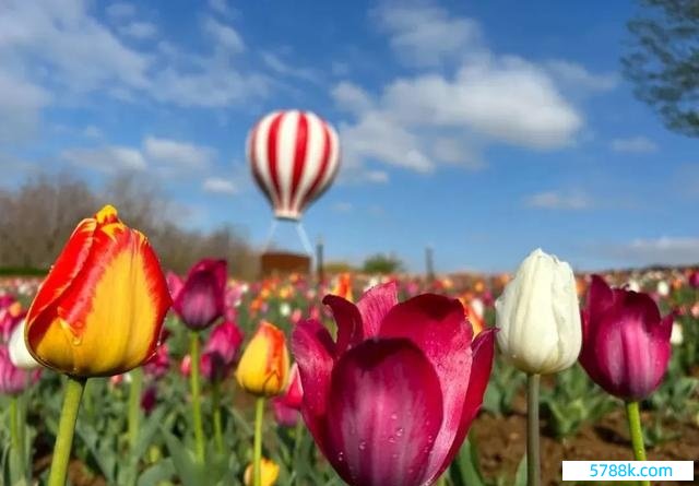
[[[668,129],[699,137],[699,1],[640,2],[642,13],[628,23],[624,73]]]

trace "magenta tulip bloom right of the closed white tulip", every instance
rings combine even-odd
[[[667,369],[672,328],[673,316],[661,319],[648,294],[612,289],[593,275],[582,311],[580,364],[608,393],[626,401],[643,400]]]

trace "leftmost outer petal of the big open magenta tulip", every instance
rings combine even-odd
[[[292,333],[292,354],[298,364],[298,374],[304,389],[304,420],[316,442],[324,451],[324,425],[330,392],[330,376],[334,365],[335,343],[328,330],[318,321],[309,319],[296,324]]]

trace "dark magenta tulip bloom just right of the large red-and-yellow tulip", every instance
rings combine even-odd
[[[227,269],[225,260],[204,259],[192,266],[181,286],[170,275],[173,308],[185,325],[200,331],[224,315]]]

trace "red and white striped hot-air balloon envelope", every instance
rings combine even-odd
[[[310,111],[266,115],[250,131],[247,145],[252,177],[280,220],[300,220],[340,168],[337,133]]]

